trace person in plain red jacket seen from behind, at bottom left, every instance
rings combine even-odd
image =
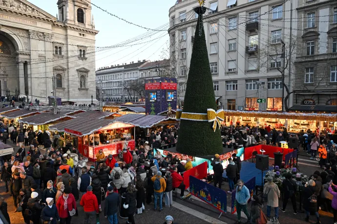
[[[84,207],[84,224],[94,223],[96,220],[96,214],[98,214],[99,209],[97,198],[92,193],[92,186],[89,185],[86,187],[86,193],[82,196],[80,204]]]

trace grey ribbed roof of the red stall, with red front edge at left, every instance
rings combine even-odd
[[[104,128],[112,123],[112,120],[105,119],[93,119],[93,118],[75,118],[69,120],[67,124],[64,126],[64,132],[77,135],[77,136],[85,136],[90,135],[95,131]]]

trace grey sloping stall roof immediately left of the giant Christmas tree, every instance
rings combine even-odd
[[[149,128],[159,124],[160,122],[169,120],[177,121],[175,118],[167,118],[160,115],[126,114],[122,117],[116,118],[113,122],[122,122],[141,128]]]

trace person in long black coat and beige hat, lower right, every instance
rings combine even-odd
[[[309,222],[310,213],[315,213],[317,219],[316,224],[320,224],[316,195],[316,183],[314,180],[310,180],[308,184],[306,184],[306,186],[303,188],[302,199],[303,208],[306,213],[305,221]]]

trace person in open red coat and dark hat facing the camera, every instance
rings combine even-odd
[[[75,197],[71,193],[70,187],[64,188],[63,195],[57,200],[56,207],[60,215],[61,224],[70,224],[71,216],[69,211],[75,212],[76,210]]]

